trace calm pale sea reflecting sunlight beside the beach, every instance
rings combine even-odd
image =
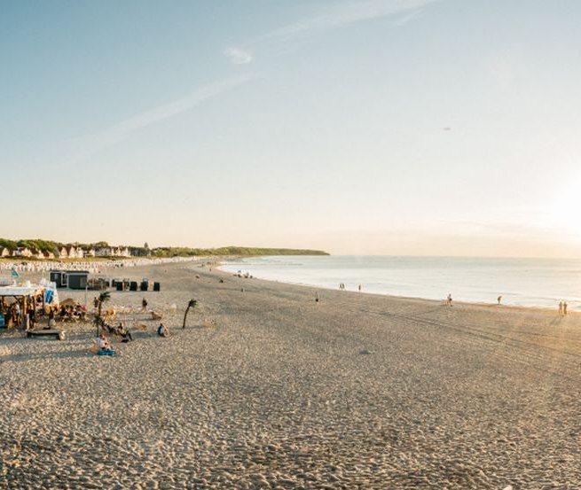
[[[412,298],[581,310],[581,261],[465,257],[279,256],[224,263],[273,281]]]

